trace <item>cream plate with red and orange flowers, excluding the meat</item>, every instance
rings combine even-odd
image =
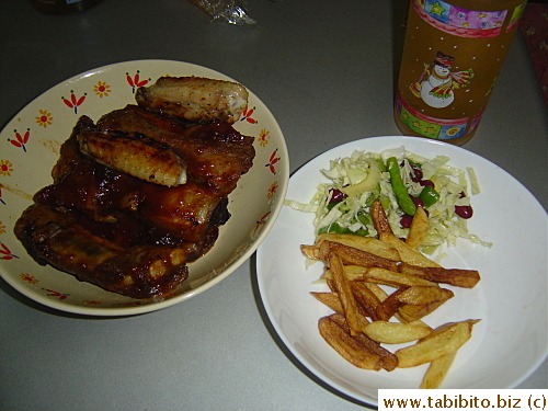
[[[32,260],[13,235],[13,225],[32,195],[53,182],[59,147],[80,115],[98,121],[103,114],[135,104],[137,87],[161,76],[196,76],[232,80],[215,70],[172,60],[136,60],[90,70],[36,98],[1,133],[0,142],[0,275],[25,296],[64,311],[94,316],[127,316],[158,310],[209,288],[238,269],[271,229],[289,179],[287,148],[269,109],[251,91],[248,110],[235,124],[255,137],[256,156],[229,196],[231,218],[220,228],[214,248],[189,264],[189,278],[170,298],[136,300],[109,293]]]

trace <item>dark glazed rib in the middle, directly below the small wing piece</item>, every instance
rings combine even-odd
[[[192,180],[168,187],[105,167],[78,150],[82,133],[73,134],[61,147],[65,157],[57,170],[72,164],[70,172],[58,172],[56,183],[35,194],[35,203],[77,209],[102,222],[115,224],[130,215],[148,228],[186,242],[202,241],[213,227],[228,220],[225,192]]]

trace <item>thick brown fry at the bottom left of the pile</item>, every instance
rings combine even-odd
[[[344,359],[359,368],[379,370],[383,368],[383,358],[364,347],[359,341],[331,319],[323,317],[318,321],[318,329],[327,341]]]

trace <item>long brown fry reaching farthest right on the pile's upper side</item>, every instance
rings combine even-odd
[[[464,288],[473,288],[480,281],[480,274],[476,270],[421,267],[409,263],[401,263],[399,270],[402,274]]]

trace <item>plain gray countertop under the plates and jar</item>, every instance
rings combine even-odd
[[[403,5],[402,5],[403,4]],[[134,59],[224,72],[269,106],[292,171],[334,146],[399,135],[392,87],[406,2],[250,0],[254,25],[209,23],[185,0],[105,0],[76,15],[0,2],[0,125],[56,83]],[[548,116],[521,34],[465,148],[547,207]],[[511,201],[511,198],[509,198]],[[209,290],[113,319],[45,308],[0,279],[2,410],[353,410],[304,369],[261,305],[254,256]],[[547,388],[546,362],[521,388]]]

